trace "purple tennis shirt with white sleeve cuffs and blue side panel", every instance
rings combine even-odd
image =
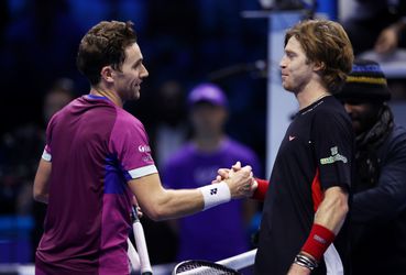
[[[105,97],[57,112],[43,158],[52,162],[36,274],[129,274],[128,180],[157,173],[143,124]]]

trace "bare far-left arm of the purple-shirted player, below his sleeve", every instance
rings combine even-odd
[[[33,196],[34,199],[47,204],[48,183],[51,177],[52,163],[41,158],[34,179]]]

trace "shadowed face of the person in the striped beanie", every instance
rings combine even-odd
[[[347,100],[343,105],[356,135],[369,131],[376,123],[382,107],[382,103],[360,100]]]

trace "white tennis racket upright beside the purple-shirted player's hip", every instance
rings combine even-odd
[[[136,207],[132,207],[132,230],[134,232],[136,251],[140,255],[141,263],[141,274],[142,275],[152,275],[152,267],[150,263],[149,251],[146,248],[144,229],[142,228],[141,221],[139,219]]]

